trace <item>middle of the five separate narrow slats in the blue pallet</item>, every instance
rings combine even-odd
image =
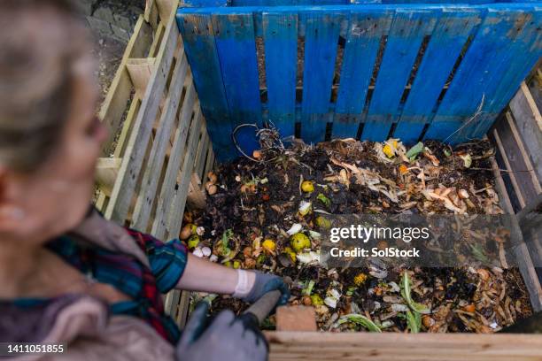
[[[355,137],[365,106],[376,55],[383,35],[390,30],[393,12],[357,10],[350,16],[341,69],[332,137]]]

